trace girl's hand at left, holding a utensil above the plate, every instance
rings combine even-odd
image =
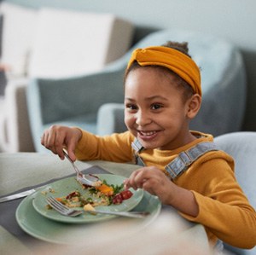
[[[82,132],[75,127],[67,127],[62,125],[52,125],[49,129],[44,130],[41,137],[41,144],[45,148],[51,150],[54,154],[58,154],[64,159],[63,148],[67,148],[69,157],[75,161],[75,148],[82,137]]]

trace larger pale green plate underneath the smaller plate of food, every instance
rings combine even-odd
[[[143,200],[131,210],[150,212],[150,215],[144,219],[116,217],[107,222],[67,224],[49,220],[47,217],[36,212],[32,206],[34,197],[35,194],[31,194],[21,201],[15,214],[17,223],[28,235],[32,235],[42,241],[57,244],[76,244],[81,237],[86,241],[90,241],[90,238],[96,238],[96,233],[99,230],[97,227],[100,227],[102,231],[102,229],[108,229],[108,226],[112,226],[112,224],[114,224],[115,235],[121,235],[123,229],[125,231],[130,229],[130,231],[136,234],[138,229],[146,228],[148,224],[158,217],[161,208],[160,200],[156,196],[144,192]],[[108,226],[104,228],[107,223]],[[93,233],[95,235],[92,235]]]

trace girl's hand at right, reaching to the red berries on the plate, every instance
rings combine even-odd
[[[125,180],[125,188],[143,188],[150,194],[157,195],[163,204],[172,205],[177,186],[155,166],[146,166],[132,172]]]

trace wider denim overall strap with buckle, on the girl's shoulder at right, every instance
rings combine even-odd
[[[173,159],[168,165],[166,165],[166,171],[170,175],[171,179],[175,179],[180,176],[183,171],[186,171],[196,159],[200,158],[203,154],[210,151],[218,150],[214,142],[201,142],[195,145],[195,147],[189,148],[186,151],[177,155],[177,158]]]

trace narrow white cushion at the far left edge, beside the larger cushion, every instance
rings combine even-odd
[[[0,11],[3,14],[1,62],[10,68],[10,76],[22,76],[26,73],[38,11],[5,2],[1,3]]]

